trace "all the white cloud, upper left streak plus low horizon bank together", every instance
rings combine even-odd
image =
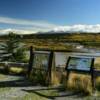
[[[100,24],[96,25],[56,25],[45,21],[34,21],[34,20],[23,20],[8,17],[0,17],[0,23],[8,24],[6,29],[1,29],[0,34],[6,34],[9,31],[16,32],[18,34],[29,34],[37,32],[47,32],[47,31],[63,31],[63,32],[100,32]],[[14,25],[16,27],[10,27]]]

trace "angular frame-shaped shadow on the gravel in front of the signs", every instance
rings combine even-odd
[[[75,96],[75,95],[78,95],[80,94],[80,92],[67,92],[67,91],[64,91],[62,88],[44,88],[44,89],[32,89],[32,90],[26,90],[26,89],[22,89],[23,91],[25,92],[28,92],[28,93],[34,93],[36,95],[39,95],[39,96],[42,96],[42,97],[45,97],[47,99],[56,99],[56,98],[60,98],[60,97],[69,97],[69,96]],[[57,90],[58,92],[58,95],[46,95],[44,93],[44,90]]]

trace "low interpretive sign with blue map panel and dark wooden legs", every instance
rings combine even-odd
[[[91,75],[92,90],[95,91],[95,75],[94,75],[94,58],[87,56],[70,56],[67,60],[66,68],[66,80],[68,83],[70,71],[88,73]]]

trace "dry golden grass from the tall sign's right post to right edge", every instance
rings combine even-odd
[[[61,74],[61,73],[59,73]],[[60,85],[62,84],[65,89],[70,91],[80,91],[84,93],[85,95],[91,95],[92,94],[92,84],[91,84],[91,76],[90,75],[83,75],[83,74],[76,74],[71,73],[69,76],[68,83],[66,81],[66,74],[63,73],[62,77],[61,75],[54,74],[53,77],[53,85]],[[60,77],[59,77],[60,76]],[[100,91],[100,77],[96,78],[96,90]]]

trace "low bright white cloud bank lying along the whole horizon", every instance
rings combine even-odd
[[[18,34],[31,34],[31,33],[37,33],[37,32],[48,32],[48,31],[54,31],[54,32],[92,32],[92,33],[98,33],[100,32],[100,24],[97,25],[72,25],[72,26],[58,26],[55,28],[38,28],[38,27],[25,27],[25,28],[7,28],[7,29],[1,29],[1,34],[9,33],[9,31],[13,31]]]

